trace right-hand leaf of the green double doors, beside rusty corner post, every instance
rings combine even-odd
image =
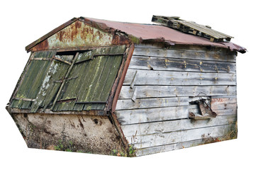
[[[126,46],[79,54],[54,111],[104,110]]]

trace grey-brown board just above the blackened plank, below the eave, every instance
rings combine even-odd
[[[133,55],[148,57],[172,57],[194,60],[235,62],[235,54],[210,50],[167,50],[154,47],[135,47]]]

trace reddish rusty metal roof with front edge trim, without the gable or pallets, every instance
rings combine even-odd
[[[229,48],[230,50],[237,50],[238,52],[246,52],[244,47],[235,45],[233,42],[211,42],[206,38],[202,38],[195,35],[189,35],[187,33],[182,33],[179,30],[174,30],[166,26],[160,26],[155,24],[142,24],[142,23],[125,23],[117,21],[106,21],[96,18],[73,18],[68,21],[67,24],[63,24],[59,29],[55,28],[47,35],[44,35],[42,38],[36,40],[26,47],[26,50],[30,50],[31,47],[37,45],[40,41],[45,40],[54,33],[57,33],[58,30],[61,30],[63,26],[74,21],[82,21],[87,23],[89,26],[104,30],[108,33],[123,32],[128,37],[133,40],[137,38],[139,40],[135,41],[136,43],[147,42],[148,40],[157,41],[157,42],[167,42],[170,45],[204,45],[204,46],[213,46],[213,47],[223,47]]]

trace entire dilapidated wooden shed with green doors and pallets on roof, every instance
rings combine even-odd
[[[72,18],[26,47],[6,106],[28,147],[140,156],[237,137],[230,35],[179,17]]]

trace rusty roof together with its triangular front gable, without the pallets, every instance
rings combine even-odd
[[[233,42],[211,42],[166,26],[123,23],[95,18],[73,18],[26,47],[29,51],[93,45],[124,45],[130,42],[165,42],[169,45],[204,45],[246,52]]]

